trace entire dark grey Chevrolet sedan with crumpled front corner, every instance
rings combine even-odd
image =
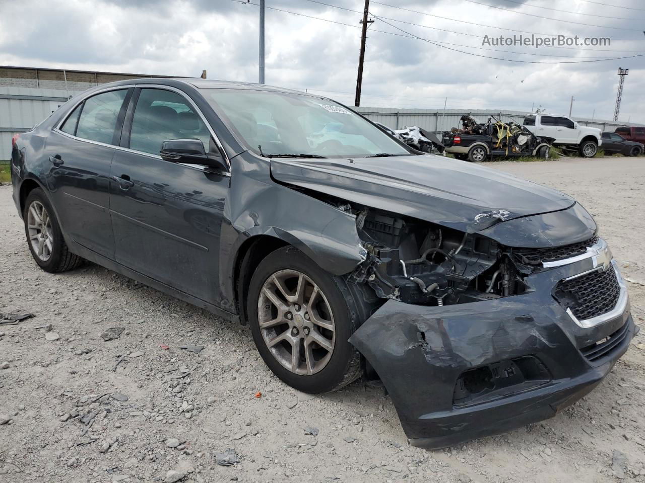
[[[555,415],[635,332],[573,198],[420,153],[324,97],[103,84],[14,136],[11,173],[43,270],[90,260],[248,324],[297,390],[380,379],[415,446]]]

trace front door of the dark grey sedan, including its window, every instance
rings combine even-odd
[[[135,91],[110,173],[116,261],[219,305],[219,244],[229,173],[164,161],[161,143],[212,142],[196,108],[175,91]]]

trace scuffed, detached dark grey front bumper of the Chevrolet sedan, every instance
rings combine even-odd
[[[350,342],[381,377],[410,444],[444,448],[508,431],[552,417],[593,390],[635,333],[618,268],[612,261],[624,293],[619,310],[593,327],[582,327],[551,294],[596,264],[584,258],[528,276],[530,290],[517,296],[446,307],[390,300],[377,310]],[[605,340],[611,350],[601,357],[590,351]],[[484,377],[488,388],[464,392],[481,387],[477,374],[501,379]]]

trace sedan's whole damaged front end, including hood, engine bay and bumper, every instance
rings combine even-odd
[[[415,446],[553,416],[635,333],[617,263],[566,194],[443,156],[281,160],[272,176],[352,214],[365,258],[346,278],[381,303],[349,341]]]

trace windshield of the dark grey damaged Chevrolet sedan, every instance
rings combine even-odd
[[[275,91],[200,91],[259,155],[312,158],[410,155],[381,129],[332,100]]]

